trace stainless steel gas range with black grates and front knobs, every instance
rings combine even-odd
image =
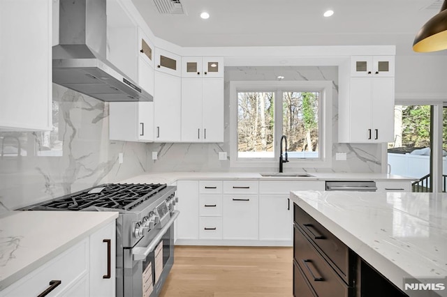
[[[35,211],[118,211],[117,296],[158,296],[174,263],[175,186],[108,183],[34,204]]]

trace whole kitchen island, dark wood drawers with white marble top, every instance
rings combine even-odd
[[[346,296],[360,296],[362,281],[365,288],[374,287],[361,276],[366,270],[378,272],[390,288],[399,288],[409,296],[447,296],[446,194],[296,191],[291,192],[291,200],[295,203],[295,246],[297,237],[307,238],[306,243],[316,250],[316,259],[324,258],[333,268],[330,271],[345,277],[339,282],[346,283],[342,285],[347,288]],[[299,226],[305,220],[313,223]],[[325,239],[334,239],[332,247],[336,248],[325,246]],[[342,245],[347,247],[346,254],[339,253]],[[300,251],[295,252],[295,261],[300,262],[297,253]],[[329,259],[337,253],[336,259]],[[346,256],[341,264],[340,254]],[[345,269],[343,265],[349,261]],[[297,272],[301,269],[305,275],[306,269],[298,266]],[[323,274],[316,266],[309,271]],[[415,282],[429,285],[416,289]],[[298,287],[302,288],[302,283]],[[427,295],[427,288],[433,289],[433,295]]]

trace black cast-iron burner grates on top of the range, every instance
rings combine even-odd
[[[166,188],[161,183],[108,183],[39,204],[38,208],[81,211],[89,207],[129,211]]]

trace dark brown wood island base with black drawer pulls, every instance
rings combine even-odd
[[[293,204],[293,296],[408,296]]]

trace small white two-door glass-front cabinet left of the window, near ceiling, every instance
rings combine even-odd
[[[223,57],[183,56],[182,77],[223,77]]]

